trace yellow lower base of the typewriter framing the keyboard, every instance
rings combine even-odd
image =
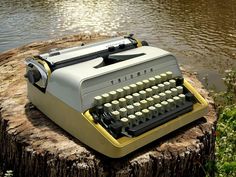
[[[121,137],[119,139],[111,136],[100,124],[94,123],[89,111],[85,113],[77,112],[58,98],[48,92],[41,92],[30,83],[28,83],[28,95],[30,101],[38,109],[44,110],[44,113],[52,121],[81,142],[106,156],[120,158],[206,114],[207,102],[187,81],[184,81],[184,86],[198,100],[198,103],[194,104],[191,112],[137,137]]]

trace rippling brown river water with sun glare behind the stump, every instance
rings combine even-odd
[[[79,32],[134,33],[217,89],[236,67],[235,0],[0,0],[0,52]]]

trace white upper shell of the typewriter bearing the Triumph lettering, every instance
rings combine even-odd
[[[46,92],[84,112],[93,106],[97,95],[166,71],[172,71],[174,77],[181,76],[176,58],[162,49],[143,46],[114,55],[140,53],[145,55],[99,68],[95,66],[103,61],[102,58],[57,69],[48,80]]]

